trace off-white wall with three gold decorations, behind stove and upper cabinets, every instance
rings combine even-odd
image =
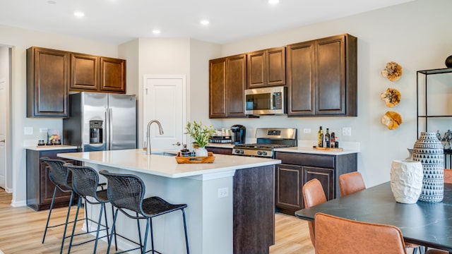
[[[364,175],[367,186],[388,181],[393,159],[408,157],[407,148],[412,147],[417,138],[416,71],[446,68],[444,61],[452,54],[452,33],[447,22],[451,9],[452,1],[449,0],[413,1],[222,45],[222,56],[230,56],[343,33],[358,37],[358,116],[266,116],[230,119],[221,124],[224,127],[243,124],[248,128],[247,136],[256,127],[295,127],[299,130],[299,139],[304,140],[316,140],[319,126],[329,127],[339,133],[340,141],[361,143],[358,170]],[[391,82],[381,76],[388,61],[403,66],[400,80]],[[386,107],[379,98],[388,87],[394,87],[402,94],[400,104],[393,109]],[[449,98],[452,97],[451,90],[447,91]],[[402,125],[396,130],[389,131],[380,123],[380,117],[387,110],[398,111],[403,118]],[[352,127],[352,136],[342,136],[341,128],[345,126]],[[452,128],[452,124],[449,126]],[[311,134],[304,134],[303,128],[311,128]]]

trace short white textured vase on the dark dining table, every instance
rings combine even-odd
[[[422,163],[410,159],[394,160],[391,164],[391,190],[397,202],[413,204],[422,191]]]

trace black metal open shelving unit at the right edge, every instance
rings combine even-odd
[[[417,83],[417,138],[419,138],[420,132],[422,131],[429,131],[428,128],[428,123],[429,120],[431,119],[446,119],[446,118],[451,118],[451,129],[452,129],[452,115],[448,115],[448,114],[439,114],[439,115],[432,115],[429,114],[428,109],[428,92],[427,92],[427,87],[428,87],[428,78],[429,75],[436,75],[436,74],[445,74],[445,73],[452,73],[452,68],[439,68],[439,69],[432,69],[432,70],[424,70],[424,71],[417,71],[417,75],[416,75],[416,83]],[[420,82],[422,83],[422,81],[420,81],[420,77],[422,77],[422,75],[424,75],[424,80],[423,83],[424,84],[420,84]],[[452,83],[452,81],[451,81]],[[424,87],[420,87],[420,85],[424,85]],[[451,84],[452,85],[452,84]],[[424,98],[423,99],[423,105],[420,105],[420,88],[424,89]],[[451,97],[451,101],[452,101],[452,97]],[[422,111],[424,114],[420,114],[420,107],[422,107]],[[420,123],[420,119],[422,120],[422,123]],[[420,128],[420,126],[422,126],[422,128]],[[431,131],[431,130],[430,130]],[[445,149],[444,150],[444,167],[446,167],[447,169],[452,169],[452,149]]]

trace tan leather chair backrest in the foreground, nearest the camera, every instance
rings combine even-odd
[[[402,232],[396,226],[357,222],[317,213],[316,254],[406,254]]]

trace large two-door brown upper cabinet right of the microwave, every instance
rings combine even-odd
[[[288,116],[357,116],[357,38],[287,45]]]

